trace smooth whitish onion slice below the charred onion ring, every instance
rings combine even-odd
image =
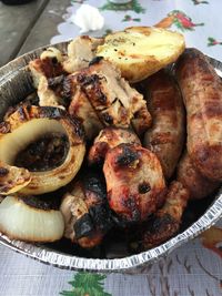
[[[7,196],[0,203],[0,232],[10,238],[54,242],[62,237],[63,231],[60,211],[34,207],[17,196]]]

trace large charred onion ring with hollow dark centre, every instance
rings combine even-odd
[[[69,150],[60,166],[44,172],[30,172],[13,166],[20,151],[50,132],[68,136]],[[84,153],[83,129],[75,118],[71,119],[58,108],[21,105],[0,126],[0,194],[56,191],[74,177]]]

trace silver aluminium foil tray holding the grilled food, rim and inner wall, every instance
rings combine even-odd
[[[67,52],[67,42],[59,43],[57,47]],[[6,113],[8,106],[26,98],[32,89],[32,81],[27,64],[30,60],[39,57],[43,48],[29,52],[0,69],[0,116]],[[216,72],[222,76],[222,63],[211,59]],[[169,239],[164,244],[149,249],[147,252],[128,255],[121,251],[120,254],[111,254],[105,258],[97,254],[84,254],[80,249],[73,249],[71,253],[67,248],[58,247],[57,244],[37,245],[20,241],[11,241],[0,233],[0,243],[31,258],[38,259],[59,268],[89,271],[101,273],[130,273],[139,274],[147,269],[153,262],[168,256],[175,247],[194,238],[200,233],[211,227],[220,217],[222,217],[222,187],[212,196],[211,204],[206,204],[199,218],[188,225],[180,234]],[[115,247],[113,247],[114,249]],[[108,258],[109,257],[109,258]],[[119,258],[120,257],[120,258]]]

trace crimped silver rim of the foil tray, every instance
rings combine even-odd
[[[64,49],[67,47],[67,43],[68,42],[62,42],[56,45],[60,49]],[[13,75],[10,70],[13,68],[14,62],[18,63],[18,68],[17,70],[13,70],[13,73],[20,71],[21,69],[24,69],[26,64],[31,59],[36,58],[37,54],[42,51],[42,49],[43,48],[31,51],[30,53],[27,53],[10,62],[9,64],[2,67],[0,69],[0,88],[2,85],[2,82],[6,82],[6,79],[10,81],[11,76]],[[215,70],[218,70],[221,74],[222,63],[212,58],[210,60],[214,65]],[[1,74],[3,75],[3,78],[1,78]],[[209,207],[209,210],[206,210],[205,213],[189,228],[155,248],[132,256],[115,259],[83,258],[52,251],[43,245],[34,245],[16,239],[10,239],[1,233],[0,243],[26,256],[29,256],[46,264],[57,266],[59,268],[88,271],[97,273],[131,273],[133,271],[133,273],[140,273],[140,267],[152,264],[159,258],[167,256],[175,247],[179,247],[183,243],[198,236],[203,231],[210,228],[220,217],[222,217],[222,187],[216,193],[214,202]]]

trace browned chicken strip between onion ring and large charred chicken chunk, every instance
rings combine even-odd
[[[71,116],[78,116],[85,131],[87,140],[92,140],[103,129],[103,124],[99,120],[94,109],[89,102],[84,92],[77,90],[72,96],[72,101],[69,105],[69,113]]]

